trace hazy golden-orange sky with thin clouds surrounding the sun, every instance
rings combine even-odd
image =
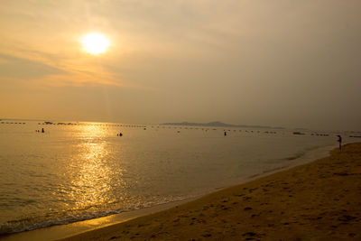
[[[2,0],[0,118],[361,131],[359,0]],[[106,52],[80,40],[101,32]]]

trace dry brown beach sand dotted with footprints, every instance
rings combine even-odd
[[[64,240],[361,240],[361,144]]]

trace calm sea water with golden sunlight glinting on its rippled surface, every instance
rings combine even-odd
[[[35,132],[42,127],[45,133]],[[227,132],[106,123],[0,124],[0,234],[196,197],[337,144],[335,134]]]

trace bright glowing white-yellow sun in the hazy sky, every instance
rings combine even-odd
[[[106,36],[99,32],[90,32],[81,39],[84,51],[91,54],[99,54],[106,51],[110,42]]]

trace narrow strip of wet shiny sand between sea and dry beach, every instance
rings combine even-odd
[[[150,208],[145,208],[145,209],[126,211],[126,212],[122,212],[119,214],[115,214],[115,215],[111,215],[111,216],[107,216],[107,217],[103,217],[103,218],[94,218],[94,219],[84,220],[84,221],[70,223],[70,224],[66,224],[66,225],[44,227],[44,228],[35,229],[32,231],[15,233],[15,234],[11,234],[8,236],[2,236],[2,237],[0,237],[0,239],[4,239],[4,240],[23,240],[23,239],[54,240],[54,239],[59,239],[59,238],[78,236],[78,235],[87,233],[92,230],[97,230],[99,228],[101,229],[104,227],[115,226],[118,224],[125,223],[134,218],[146,217],[149,215],[153,215],[154,213],[158,213],[158,212],[162,212],[164,210],[178,207],[179,205],[182,205],[185,203],[190,203],[195,200],[197,201],[198,199],[202,199],[205,196],[212,195],[213,193],[218,193],[218,191],[232,189],[235,186],[239,186],[239,185],[245,185],[246,183],[262,179],[264,177],[273,175],[274,173],[278,173],[280,171],[287,171],[287,170],[290,170],[290,169],[300,166],[300,165],[304,165],[304,164],[307,164],[310,162],[315,162],[315,160],[318,160],[320,157],[326,156],[327,153],[329,153],[329,150],[331,150],[331,148],[333,148],[333,147],[334,147],[334,145],[333,146],[324,146],[321,148],[311,150],[310,152],[307,152],[304,155],[302,155],[301,158],[292,160],[292,163],[288,166],[282,166],[275,170],[264,171],[263,173],[259,173],[254,176],[250,176],[243,180],[240,180],[237,182],[237,184],[218,188],[213,191],[209,191],[205,194],[199,195],[195,198],[183,199],[180,201],[173,201],[170,203],[160,204],[160,205],[156,205],[156,206],[153,206]],[[296,162],[293,162],[293,161],[296,161]]]

